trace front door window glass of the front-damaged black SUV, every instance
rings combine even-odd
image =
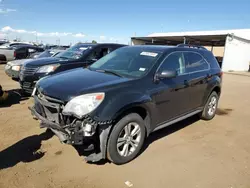
[[[182,52],[175,52],[170,54],[162,63],[159,72],[162,71],[177,71],[178,75],[184,74],[185,71],[185,61]]]

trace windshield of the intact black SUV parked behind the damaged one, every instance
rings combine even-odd
[[[83,45],[83,44],[77,44],[75,46],[72,46],[65,52],[62,52],[58,54],[56,57],[64,58],[64,59],[79,59],[83,56],[86,51],[91,49],[92,45]]]

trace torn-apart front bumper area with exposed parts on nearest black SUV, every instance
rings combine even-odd
[[[111,124],[96,122],[91,117],[83,119],[62,115],[63,103],[57,99],[34,95],[35,105],[29,107],[41,128],[52,130],[59,140],[71,145],[85,145],[91,153],[86,161],[97,162],[106,158],[106,146]]]

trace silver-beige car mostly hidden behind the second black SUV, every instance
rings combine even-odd
[[[12,79],[18,80],[21,67],[24,63],[26,62],[28,63],[33,59],[53,57],[64,51],[65,50],[46,50],[44,52],[40,52],[40,54],[34,55],[33,58],[30,59],[19,59],[19,60],[9,61],[5,66],[5,73]]]

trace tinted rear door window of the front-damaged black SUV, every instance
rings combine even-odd
[[[186,68],[188,72],[202,71],[209,68],[203,57],[197,53],[185,53]]]

